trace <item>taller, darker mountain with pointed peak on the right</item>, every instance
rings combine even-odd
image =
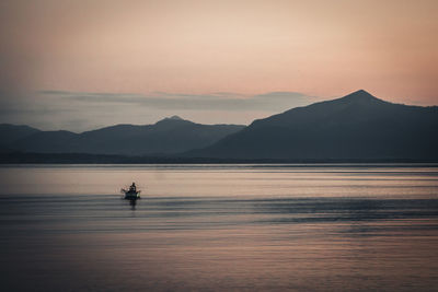
[[[192,157],[438,159],[438,107],[407,106],[366,91],[253,121]]]

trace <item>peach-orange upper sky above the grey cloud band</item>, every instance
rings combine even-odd
[[[9,79],[36,90],[437,97],[435,0],[1,5]]]

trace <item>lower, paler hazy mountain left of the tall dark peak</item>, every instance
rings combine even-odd
[[[204,148],[244,126],[200,125],[177,116],[154,125],[116,125],[93,131],[39,131],[10,143],[10,148],[35,153],[90,153],[157,155]]]

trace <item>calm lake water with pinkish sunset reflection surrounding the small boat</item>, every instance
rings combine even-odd
[[[5,291],[434,291],[434,165],[0,168]],[[138,182],[143,198],[120,199]]]

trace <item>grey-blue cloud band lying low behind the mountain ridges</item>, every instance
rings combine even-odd
[[[115,124],[153,124],[178,115],[201,124],[247,125],[254,119],[318,100],[296,92],[247,96],[229,92],[118,94],[38,91],[25,95],[3,94],[0,98],[0,122],[80,132]]]

